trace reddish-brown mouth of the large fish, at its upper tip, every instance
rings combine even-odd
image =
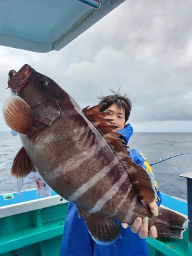
[[[13,93],[20,92],[28,83],[29,76],[31,76],[33,71],[35,70],[28,64],[25,64],[18,72],[10,70],[8,88],[11,88]]]

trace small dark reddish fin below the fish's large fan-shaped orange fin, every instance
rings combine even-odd
[[[11,175],[16,178],[22,178],[27,176],[30,172],[36,172],[36,170],[26,150],[22,147],[13,160]]]

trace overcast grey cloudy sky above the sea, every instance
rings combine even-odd
[[[61,51],[0,47],[0,90],[8,71],[28,63],[51,77],[82,108],[118,90],[132,100],[140,132],[192,132],[192,2],[127,0]],[[9,131],[0,95],[0,131]]]

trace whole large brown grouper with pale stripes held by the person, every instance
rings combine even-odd
[[[120,227],[148,216],[158,236],[181,238],[188,220],[148,204],[156,192],[148,173],[131,161],[125,145],[109,125],[101,106],[81,109],[52,79],[24,65],[10,71],[6,124],[19,132],[22,148],[13,161],[12,175],[24,177],[38,170],[60,196],[77,205],[93,238],[114,241]],[[128,148],[129,150],[129,148]]]

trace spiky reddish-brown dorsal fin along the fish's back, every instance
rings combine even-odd
[[[99,112],[101,107],[102,104],[92,108],[85,108],[83,109],[83,113],[104,135],[104,138],[111,148],[113,148],[118,159],[124,164],[140,200],[145,204],[150,204],[156,199],[156,192],[154,191],[154,185],[150,179],[150,175],[148,175],[141,166],[134,163],[131,160],[131,157],[127,155],[129,153],[129,147],[124,145],[122,143],[123,140],[118,138],[121,134],[113,131],[116,128],[116,125],[108,124],[111,119],[104,118],[108,115],[108,112]]]

